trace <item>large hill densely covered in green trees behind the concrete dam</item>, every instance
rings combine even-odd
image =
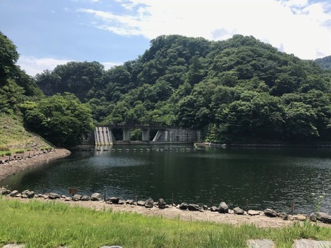
[[[72,92],[98,123],[177,125],[212,142],[331,141],[330,71],[254,37],[161,36],[134,61],[103,70],[70,62],[36,76]]]

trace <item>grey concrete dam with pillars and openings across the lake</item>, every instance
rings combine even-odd
[[[115,141],[112,129],[121,129],[123,138]],[[201,134],[199,130],[189,130],[174,127],[157,127],[145,125],[108,125],[97,126],[94,130],[94,138],[90,136],[88,143],[92,145],[114,145],[117,143],[131,143],[130,131],[141,129],[140,143],[194,143],[199,142]],[[150,130],[157,130],[157,134],[150,140]],[[136,141],[135,141],[136,142]]]

